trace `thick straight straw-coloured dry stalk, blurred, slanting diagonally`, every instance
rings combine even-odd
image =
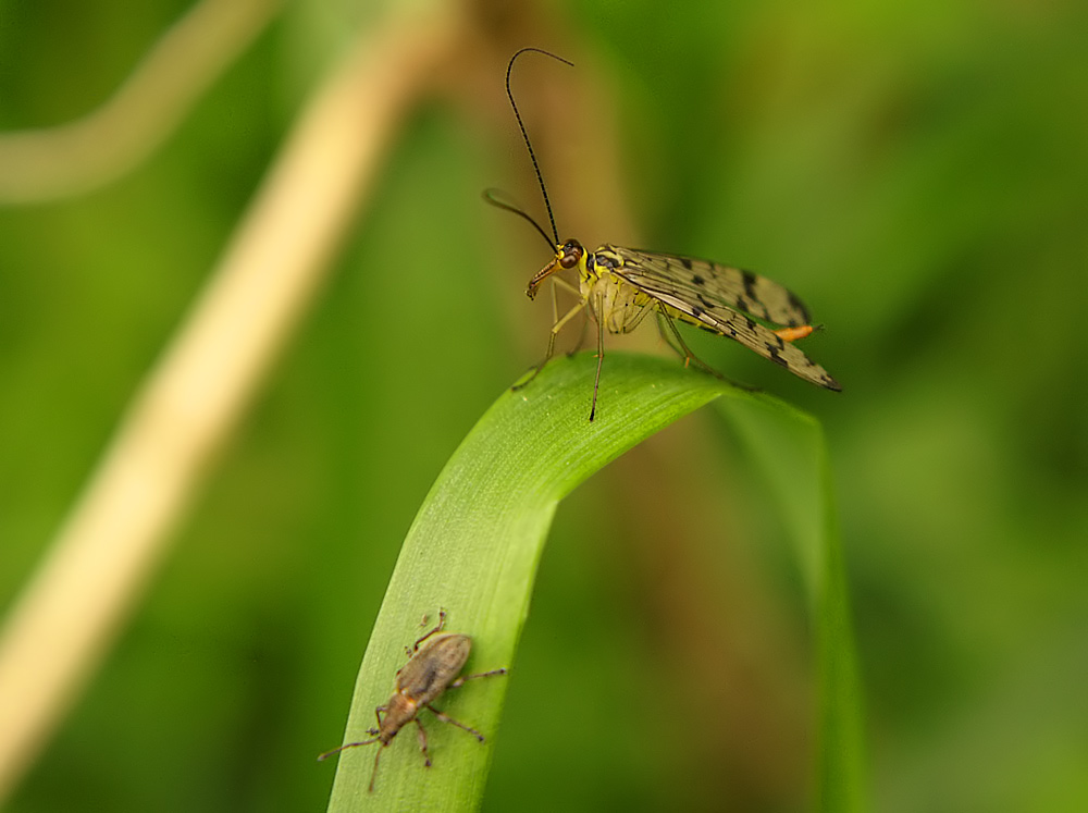
[[[322,281],[405,113],[456,47],[456,23],[434,9],[393,14],[333,70],[133,398],[0,635],[0,800],[153,576],[209,464]]]

